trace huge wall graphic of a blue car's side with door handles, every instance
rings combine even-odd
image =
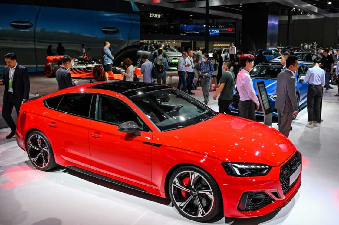
[[[6,2],[12,4],[0,3],[0,55],[14,52],[28,72],[42,72],[46,56],[80,55],[82,44],[91,49],[92,58],[101,59],[105,41],[111,43],[116,66],[124,57],[136,62],[140,16],[134,2],[112,7],[116,1],[99,1],[97,10],[88,0]],[[4,66],[0,61],[0,68]]]

